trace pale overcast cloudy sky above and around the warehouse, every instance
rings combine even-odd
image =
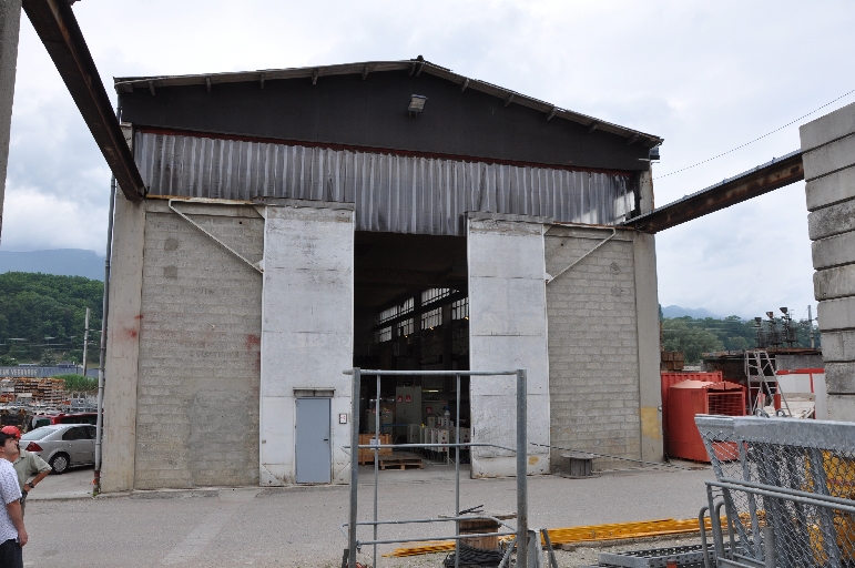
[[[855,89],[852,1],[83,0],[112,77],[424,55],[665,139],[654,175],[773,131]],[[855,94],[804,119],[855,102]],[[663,205],[800,146],[798,124],[654,182]],[[0,248],[103,254],[110,172],[28,19],[21,22]],[[744,317],[813,303],[804,184],[656,235],[662,305]]]

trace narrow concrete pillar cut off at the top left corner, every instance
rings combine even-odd
[[[9,165],[9,132],[12,124],[20,29],[21,0],[0,0],[0,235],[3,231],[6,171]]]

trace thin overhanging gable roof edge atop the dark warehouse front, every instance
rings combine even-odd
[[[370,73],[388,71],[408,71],[410,75],[415,74],[416,77],[421,73],[435,75],[459,85],[461,91],[466,89],[472,89],[499,98],[505,101],[506,105],[519,104],[540,111],[546,115],[547,121],[558,118],[588,126],[589,132],[599,130],[623,136],[627,139],[628,144],[639,142],[643,146],[653,148],[662,144],[664,141],[662,138],[655,136],[653,134],[628,129],[625,126],[613,124],[611,122],[589,116],[587,114],[562,109],[552,103],[544,102],[539,99],[511,91],[509,89],[503,89],[486,81],[460,75],[450,69],[426,61],[420,55],[417,59],[404,61],[366,61],[360,63],[343,63],[336,65],[266,69],[258,71],[236,71],[227,73],[205,73],[189,75],[120,77],[114,78],[113,81],[115,90],[119,93],[130,93],[133,92],[134,89],[146,89],[152,93],[155,93],[156,90],[162,87],[197,84],[205,85],[208,90],[211,90],[213,85],[218,83],[242,82],[258,82],[263,87],[266,81],[276,81],[283,79],[309,79],[313,83],[315,83],[323,77],[360,74],[363,79],[366,79]]]

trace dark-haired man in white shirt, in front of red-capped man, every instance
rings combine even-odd
[[[0,432],[0,566],[23,568],[21,548],[27,544],[27,529],[21,513],[21,489],[9,456],[17,455],[18,440]]]

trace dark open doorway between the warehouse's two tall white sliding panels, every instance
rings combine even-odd
[[[388,371],[469,368],[466,237],[356,232],[354,261],[354,366]],[[469,378],[376,377],[360,385],[360,434],[394,443],[461,440],[471,428]],[[457,416],[457,398],[460,416]],[[439,430],[439,432],[436,432]],[[431,437],[432,434],[432,437]],[[447,460],[442,452],[423,457]],[[369,452],[366,460],[371,460]],[[468,458],[468,453],[466,453]],[[461,460],[464,458],[461,457]]]

